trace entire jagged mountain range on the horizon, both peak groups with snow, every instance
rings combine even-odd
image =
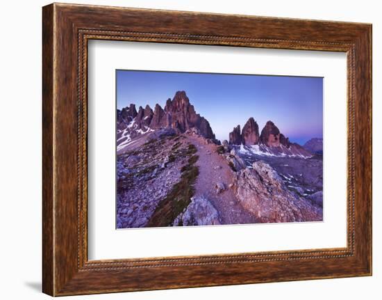
[[[204,138],[220,143],[215,139],[208,120],[196,113],[185,91],[182,90],[176,92],[172,100],[170,98],[167,100],[164,109],[159,104],[156,104],[154,109],[149,105],[144,109],[140,106],[138,111],[135,109],[135,104],[130,104],[122,110],[117,109],[117,152],[134,143],[134,140],[142,134],[163,128],[174,129],[177,134],[194,129]],[[254,152],[256,155],[312,157],[315,153],[322,153],[322,139],[321,148],[319,139],[308,141],[304,147],[291,143],[270,120],[259,134],[258,123],[254,118],[249,118],[242,130],[240,125],[234,127],[226,143],[238,145],[241,151]]]

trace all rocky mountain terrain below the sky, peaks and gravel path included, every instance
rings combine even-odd
[[[254,118],[220,145],[184,91],[117,110],[116,160],[117,228],[322,221],[322,156]]]

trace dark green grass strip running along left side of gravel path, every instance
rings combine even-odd
[[[198,155],[194,155],[197,148],[190,144],[188,145],[187,155],[188,164],[181,168],[181,180],[174,184],[169,194],[158,203],[156,210],[147,222],[147,227],[165,227],[170,226],[176,219],[176,216],[181,214],[185,207],[191,202],[191,197],[194,195],[194,183],[199,175],[199,168],[194,164],[199,159]],[[178,224],[182,226],[181,223]]]

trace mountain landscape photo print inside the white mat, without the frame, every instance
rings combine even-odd
[[[323,221],[323,78],[116,70],[116,228]]]

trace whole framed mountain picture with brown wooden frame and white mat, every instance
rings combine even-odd
[[[42,10],[43,292],[372,274],[372,25]]]

